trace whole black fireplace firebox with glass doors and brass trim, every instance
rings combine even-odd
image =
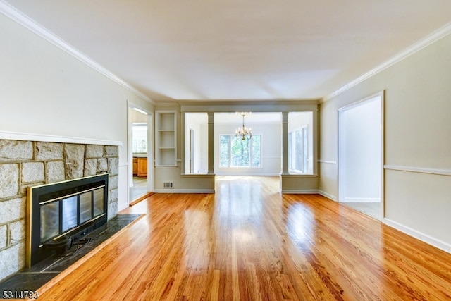
[[[108,173],[27,188],[26,265],[64,252],[104,225]]]

